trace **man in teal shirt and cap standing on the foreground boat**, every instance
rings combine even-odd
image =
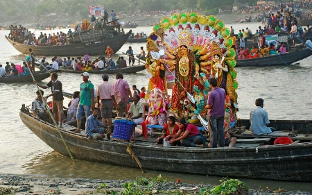
[[[83,83],[80,83],[80,99],[77,108],[77,130],[75,130],[75,133],[80,133],[83,112],[85,111],[85,117],[87,118],[91,115],[91,108],[94,108],[94,85],[89,80],[89,73],[84,72],[81,76],[83,76]]]

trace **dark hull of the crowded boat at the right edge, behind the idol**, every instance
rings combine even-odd
[[[236,67],[265,67],[276,65],[291,65],[312,55],[312,50],[292,51],[283,54],[274,54],[265,57],[236,60]]]

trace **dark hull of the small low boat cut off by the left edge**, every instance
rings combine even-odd
[[[35,80],[40,81],[50,77],[50,73],[46,71],[36,71],[33,76]],[[9,77],[0,77],[0,83],[25,83],[33,82],[33,77],[31,74],[23,76],[9,76]]]

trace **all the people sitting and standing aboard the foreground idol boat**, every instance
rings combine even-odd
[[[51,74],[51,81],[46,85],[40,85],[43,89],[51,88],[51,94],[44,96],[44,91],[37,90],[36,99],[31,106],[31,112],[36,119],[51,122],[49,111],[44,105],[44,99],[53,97],[51,102],[51,111],[57,121],[58,126],[62,128],[62,123],[76,121],[77,129],[74,133],[81,133],[83,113],[85,114],[85,136],[88,139],[110,139],[114,129],[112,118],[114,117],[113,108],[116,108],[116,116],[128,117],[135,124],[144,123],[144,102],[145,87],[140,90],[136,85],[130,85],[123,79],[123,74],[117,73],[115,82],[109,83],[110,76],[103,74],[103,82],[94,87],[94,83],[89,80],[90,74],[84,72],[81,74],[83,82],[80,83],[80,91],[73,92],[73,97],[68,104],[68,109],[63,105],[62,83],[58,74]],[[236,137],[229,135],[228,128],[225,125],[225,90],[218,87],[215,78],[209,80],[211,91],[209,92],[208,103],[209,119],[211,123],[211,136],[209,143],[203,136],[198,126],[189,123],[184,117],[177,119],[174,116],[168,116],[167,123],[164,125],[162,136],[156,139],[157,144],[168,142],[171,146],[189,146],[189,147],[233,147],[236,144]],[[96,101],[96,100],[97,101]],[[270,133],[274,128],[268,127],[268,113],[263,110],[263,99],[256,100],[256,108],[250,112],[251,130],[256,135]],[[67,117],[64,116],[64,110],[67,109]],[[101,119],[101,120],[100,120]],[[142,132],[133,131],[132,137],[141,136]]]

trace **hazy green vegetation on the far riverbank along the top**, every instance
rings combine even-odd
[[[255,4],[256,0],[241,0],[239,2]],[[87,17],[88,6],[105,6],[108,13],[114,10],[126,15],[135,12],[153,12],[170,10],[201,10],[204,14],[211,10],[232,10],[232,0],[11,0],[0,1],[2,16],[6,17],[42,17],[44,15],[70,15],[71,17]]]

